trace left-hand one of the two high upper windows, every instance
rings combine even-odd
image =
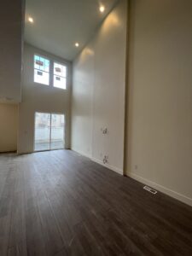
[[[34,55],[34,82],[49,85],[49,60]]]

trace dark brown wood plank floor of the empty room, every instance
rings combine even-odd
[[[0,155],[0,255],[192,255],[192,208],[68,150]]]

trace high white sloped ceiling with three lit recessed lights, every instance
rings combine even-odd
[[[25,40],[72,61],[117,0],[26,0]],[[106,8],[102,14],[100,4]],[[28,21],[32,16],[34,23]],[[75,48],[79,42],[79,49]]]

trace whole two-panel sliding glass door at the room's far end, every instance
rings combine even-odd
[[[34,151],[64,148],[64,137],[64,114],[35,113]]]

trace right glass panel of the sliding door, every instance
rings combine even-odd
[[[64,114],[51,114],[51,143],[50,149],[64,148]]]

